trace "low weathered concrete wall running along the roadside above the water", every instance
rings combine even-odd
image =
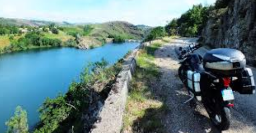
[[[150,43],[142,43],[124,59],[123,70],[118,74],[109,97],[106,99],[98,121],[94,124],[91,133],[120,133],[123,127],[123,114],[128,98],[129,83],[135,72],[139,49],[149,46]]]

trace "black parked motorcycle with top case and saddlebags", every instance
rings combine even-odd
[[[234,105],[234,92],[254,94],[255,82],[252,71],[246,68],[241,51],[219,48],[208,51],[203,57],[193,54],[201,45],[180,47],[179,77],[191,98],[201,101],[219,130],[228,130],[230,109]],[[187,103],[185,102],[185,103]]]

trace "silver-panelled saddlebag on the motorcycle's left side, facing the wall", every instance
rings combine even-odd
[[[198,101],[202,101],[200,88],[201,74],[199,72],[187,71],[187,88],[190,94],[195,96]]]

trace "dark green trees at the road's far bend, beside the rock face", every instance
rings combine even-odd
[[[200,36],[210,17],[210,12],[226,5],[226,0],[218,0],[215,7],[201,4],[194,5],[192,9],[182,14],[180,18],[169,21],[166,26],[153,28],[149,31],[144,41],[152,41],[164,36]]]

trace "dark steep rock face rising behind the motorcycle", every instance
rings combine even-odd
[[[213,10],[202,41],[212,47],[239,49],[256,66],[256,0],[229,0],[226,7]]]

